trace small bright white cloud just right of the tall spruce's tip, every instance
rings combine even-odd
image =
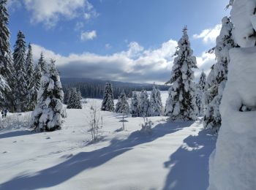
[[[194,39],[203,39],[204,43],[214,43],[219,36],[219,32],[222,28],[221,24],[218,24],[214,28],[208,28],[203,30],[200,34],[194,34]]]

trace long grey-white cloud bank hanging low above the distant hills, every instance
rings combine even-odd
[[[94,53],[61,56],[39,45],[32,45],[35,60],[41,52],[48,61],[50,58],[56,59],[61,77],[89,77],[135,83],[165,83],[170,78],[176,46],[177,42],[170,39],[159,48],[145,50],[138,42],[130,42],[126,51],[108,56]],[[208,53],[197,57],[199,69],[195,70],[196,77],[199,77],[203,69],[208,72],[214,64],[214,58],[214,55]]]

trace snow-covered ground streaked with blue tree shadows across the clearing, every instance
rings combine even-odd
[[[162,92],[164,104],[166,97]],[[208,157],[216,137],[201,131],[200,120],[173,123],[154,117],[152,134],[143,134],[143,118],[126,118],[120,131],[120,115],[100,112],[102,138],[90,143],[90,105],[99,107],[101,100],[87,100],[83,110],[67,110],[59,131],[34,133],[24,126],[0,131],[0,189],[208,187]]]

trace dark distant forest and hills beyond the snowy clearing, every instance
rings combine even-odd
[[[83,96],[83,98],[95,98],[102,99],[105,83],[107,80],[93,80],[86,78],[61,78],[61,83],[64,89],[64,93],[68,91],[69,88],[78,88]],[[151,91],[153,84],[138,84],[138,83],[123,83],[117,81],[110,81],[113,85],[114,98],[117,99],[121,91],[124,90],[128,97],[132,96],[132,91]],[[167,91],[170,86],[157,86],[161,91]]]

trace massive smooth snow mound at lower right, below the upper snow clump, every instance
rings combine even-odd
[[[233,48],[230,58],[220,106],[222,127],[210,159],[208,190],[256,187],[256,112],[252,111],[256,107],[256,47]],[[244,112],[244,106],[250,109]]]

